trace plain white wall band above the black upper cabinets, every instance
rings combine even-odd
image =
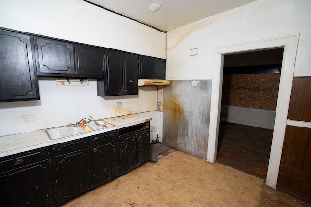
[[[0,27],[165,59],[165,33],[82,0],[0,0]]]

